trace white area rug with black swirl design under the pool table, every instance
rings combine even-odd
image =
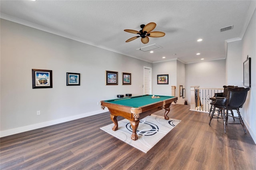
[[[132,128],[127,119],[118,121],[116,131],[112,130],[114,123],[100,129],[146,153],[178,123],[180,121],[176,119],[165,120],[164,117],[158,115],[147,116],[140,120],[137,129],[138,140],[135,141],[131,139]]]

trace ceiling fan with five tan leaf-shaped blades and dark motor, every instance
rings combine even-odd
[[[165,35],[164,32],[159,32],[159,31],[151,32],[152,30],[154,30],[155,27],[156,27],[156,23],[150,22],[147,25],[144,25],[144,24],[140,25],[140,28],[142,28],[142,30],[140,30],[139,32],[136,30],[124,30],[125,32],[130,32],[130,33],[139,35],[126,40],[126,42],[130,42],[132,40],[135,40],[141,37],[142,43],[148,43],[149,42],[148,37],[163,37]]]

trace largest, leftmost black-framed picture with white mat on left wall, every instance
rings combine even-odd
[[[32,69],[32,89],[52,88],[52,70]]]

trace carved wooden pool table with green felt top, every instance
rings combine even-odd
[[[110,111],[110,119],[114,123],[112,130],[118,130],[118,121],[116,118],[122,116],[130,121],[132,127],[132,140],[137,140],[136,133],[140,119],[151,115],[156,111],[165,109],[164,119],[168,120],[167,114],[170,112],[172,102],[176,103],[178,97],[173,96],[158,96],[152,98],[152,95],[141,95],[134,97],[125,97],[121,99],[112,99],[101,101],[101,108],[108,107]]]

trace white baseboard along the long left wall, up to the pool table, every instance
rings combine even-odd
[[[51,126],[51,125],[56,125],[56,124],[64,123],[64,122],[68,122],[68,121],[73,121],[73,120],[76,120],[76,119],[80,119],[80,118],[88,117],[88,116],[92,116],[92,115],[97,115],[97,114],[104,113],[104,112],[108,112],[108,108],[105,108],[104,110],[98,110],[98,111],[83,113],[83,114],[80,114],[80,115],[64,117],[64,118],[61,118],[61,119],[56,119],[56,120],[52,120],[52,121],[37,123],[37,124],[28,125],[28,126],[24,126],[24,127],[18,127],[18,128],[13,128],[13,129],[9,129],[9,130],[4,130],[4,131],[0,132],[0,137],[10,136],[12,134],[26,132],[26,131],[29,131],[29,130],[34,130],[34,129],[38,129],[38,128],[42,128],[42,127],[48,127],[48,126]]]

